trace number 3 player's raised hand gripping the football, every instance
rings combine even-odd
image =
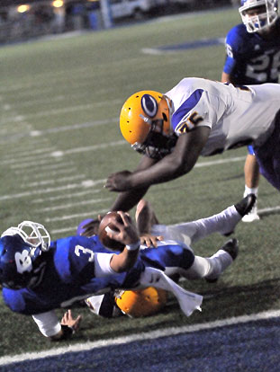
[[[113,225],[114,230],[107,232],[107,235],[118,242],[125,245],[135,244],[140,241],[139,233],[137,227],[134,225],[131,217],[128,213],[118,211],[118,214],[122,218],[122,222],[118,222],[115,218],[110,221]]]

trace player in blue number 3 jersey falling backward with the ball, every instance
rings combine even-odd
[[[122,223],[112,220],[117,231],[108,235],[122,242],[122,252],[110,252],[98,236],[75,235],[50,241],[44,226],[23,221],[0,238],[0,284],[5,304],[15,313],[32,315],[40,331],[51,340],[64,340],[77,330],[80,317],[68,311],[61,323],[55,309],[115,289],[159,288],[172,292],[186,315],[200,309],[203,297],[178,286],[168,276],[215,281],[238,254],[231,239],[211,257],[194,255],[185,239],[220,232],[227,235],[252,207],[254,196],[242,199],[218,215],[178,226],[159,226],[167,239],[158,248],[140,249],[140,236],[131,218],[119,212]],[[200,234],[198,234],[198,230]],[[156,234],[158,234],[158,232]],[[81,231],[79,232],[81,233]],[[82,232],[83,233],[83,232]],[[144,237],[147,241],[149,237]],[[188,240],[190,242],[190,240]],[[98,296],[96,296],[98,297]],[[98,312],[108,304],[99,301]],[[109,304],[110,305],[110,304]]]

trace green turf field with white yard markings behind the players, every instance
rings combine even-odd
[[[142,49],[222,38],[237,22],[237,9],[224,9],[1,48],[1,232],[32,219],[57,239],[108,210],[115,194],[104,190],[104,180],[132,170],[140,156],[122,140],[122,102],[141,89],[166,92],[185,76],[221,77],[222,45],[159,55]],[[241,199],[246,153],[243,148],[201,158],[187,176],[152,187],[147,199],[162,223],[210,216]],[[262,179],[258,207],[272,210],[257,223],[239,224],[235,264],[215,285],[184,282],[204,295],[202,313],[186,318],[172,298],[162,314],[147,319],[104,320],[83,310],[72,342],[279,309],[280,213],[273,209],[279,204],[278,193]],[[210,255],[223,242],[212,235],[194,250]],[[0,356],[57,346],[2,300],[0,319]]]

